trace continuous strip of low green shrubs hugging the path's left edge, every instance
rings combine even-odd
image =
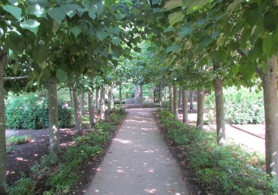
[[[113,110],[113,118],[124,118],[124,109]],[[31,170],[37,176],[47,176],[49,191],[44,195],[63,195],[79,183],[81,165],[91,157],[97,157],[104,152],[104,145],[111,140],[115,125],[109,120],[101,120],[96,125],[96,131],[74,139],[74,146],[68,146],[61,157],[46,156],[35,163]]]

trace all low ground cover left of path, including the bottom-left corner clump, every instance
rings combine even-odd
[[[115,109],[106,120],[100,120],[95,130],[74,139],[61,155],[42,157],[31,167],[31,178],[21,178],[14,185],[6,186],[10,194],[69,194],[81,180],[81,166],[103,155],[106,144],[112,139],[117,125],[124,119],[124,109]],[[44,192],[36,189],[39,180],[45,180]]]

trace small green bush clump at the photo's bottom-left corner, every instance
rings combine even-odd
[[[6,186],[8,195],[35,195],[36,182],[29,178],[21,178],[12,187]]]

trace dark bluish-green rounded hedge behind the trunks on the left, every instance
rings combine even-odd
[[[12,129],[38,130],[48,127],[47,99],[35,93],[17,97],[11,95],[6,104],[6,127]],[[58,106],[59,127],[69,127],[72,110]]]

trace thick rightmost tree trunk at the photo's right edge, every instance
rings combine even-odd
[[[268,60],[267,72],[262,73],[263,101],[265,109],[265,165],[266,172],[278,177],[278,58]]]

